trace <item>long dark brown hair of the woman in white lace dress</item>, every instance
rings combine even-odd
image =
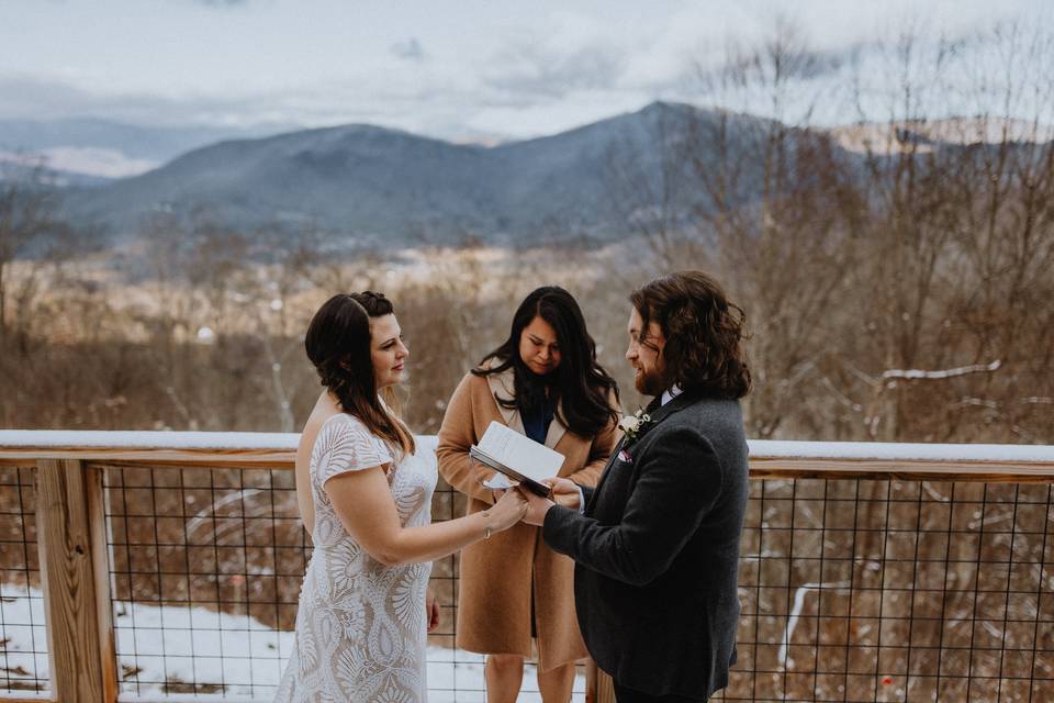
[[[340,409],[362,421],[373,434],[405,454],[416,449],[414,435],[400,420],[395,395],[390,388],[378,397],[377,378],[370,357],[370,317],[395,312],[383,293],[338,293],[323,303],[311,319],[304,348]]]

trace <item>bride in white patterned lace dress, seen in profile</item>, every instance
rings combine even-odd
[[[383,294],[334,295],[305,346],[326,387],[296,450],[314,554],[276,701],[423,702],[426,621],[438,624],[438,606],[426,607],[430,562],[507,529],[527,503],[508,491],[486,511],[431,524],[436,471],[391,410],[410,352]]]

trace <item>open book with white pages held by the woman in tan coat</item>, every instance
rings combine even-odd
[[[480,444],[469,448],[469,456],[543,498],[549,498],[549,487],[541,481],[554,478],[563,466],[562,454],[500,422],[487,425]],[[485,486],[504,488],[494,482]]]

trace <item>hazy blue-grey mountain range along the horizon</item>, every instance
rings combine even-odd
[[[709,127],[718,121],[730,154],[710,150],[717,145],[709,143],[715,134]],[[747,144],[763,141],[769,126],[752,115],[668,102],[551,136],[492,145],[352,124],[198,144],[127,178],[70,170],[59,182],[68,186],[67,214],[102,225],[114,242],[150,236],[148,222],[162,213],[167,223],[205,222],[249,234],[276,224],[312,227],[348,246],[467,238],[588,244],[633,234],[641,223],[687,224],[709,205],[695,169],[719,159],[742,166],[728,187],[740,203],[752,202],[761,192],[763,164]],[[928,149],[963,148],[990,136],[969,120],[938,126]],[[1023,129],[1008,126],[1014,134]],[[840,159],[863,167],[867,145],[889,142],[893,129],[857,124],[828,133]],[[122,158],[144,160],[223,133],[91,120],[48,129],[0,121],[0,140],[32,136],[42,149],[113,147]],[[691,149],[679,144],[686,138],[694,140]],[[687,154],[696,160],[688,163]]]

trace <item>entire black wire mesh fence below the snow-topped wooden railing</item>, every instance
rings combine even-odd
[[[311,558],[292,471],[111,466],[104,487],[121,695],[269,700]],[[0,689],[42,689],[32,471],[0,469]],[[1051,509],[1046,483],[752,481],[739,661],[716,700],[1054,700]],[[434,520],[462,512],[441,484]],[[455,647],[457,574],[456,556],[434,565],[434,702],[484,700],[482,657]],[[525,692],[540,700],[530,670]]]

